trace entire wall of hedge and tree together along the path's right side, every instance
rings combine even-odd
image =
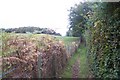
[[[97,78],[120,78],[120,2],[71,7],[68,36],[85,37],[88,62]]]

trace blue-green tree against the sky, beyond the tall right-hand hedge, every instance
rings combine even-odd
[[[71,7],[69,20],[70,20],[70,28],[72,30],[73,36],[82,36],[84,33],[87,23],[88,13],[91,12],[91,8],[88,3],[80,3],[79,5],[75,5]]]

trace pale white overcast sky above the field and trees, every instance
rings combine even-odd
[[[0,28],[35,26],[66,34],[70,7],[82,0],[0,0]]]

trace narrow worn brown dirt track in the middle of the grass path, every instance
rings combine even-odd
[[[80,74],[80,59],[78,57],[78,59],[72,66],[72,78],[79,78],[79,74]]]

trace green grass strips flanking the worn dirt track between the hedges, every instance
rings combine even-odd
[[[62,78],[72,78],[72,66],[78,59],[80,60],[79,78],[87,78],[89,76],[86,48],[81,45],[78,51],[69,60],[67,67],[61,75]]]

